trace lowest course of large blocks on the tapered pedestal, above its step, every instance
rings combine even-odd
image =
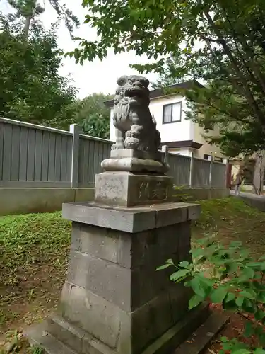
[[[85,330],[76,331],[72,325],[64,324],[62,321],[61,326],[64,329],[68,329],[71,338],[66,338],[64,341],[65,333],[59,330],[56,326],[60,323],[57,319],[55,324],[50,329],[50,333],[58,338],[60,341],[67,343],[71,348],[83,348],[84,341],[86,342],[87,348],[90,348],[91,340],[93,337],[88,336],[86,331],[92,334],[95,338],[102,341],[102,336],[99,336],[98,329],[99,326],[95,325],[94,321],[98,321],[100,314],[102,314],[102,309],[106,306],[112,307],[112,312],[108,312],[108,315],[103,314],[101,319],[101,330],[105,330],[105,325],[107,323],[111,324],[107,332],[105,332],[103,343],[107,343],[109,346],[112,344],[111,348],[117,350],[117,353],[141,353],[141,350],[146,347],[146,344],[155,338],[161,336],[167,329],[170,329],[176,322],[175,314],[175,298],[169,292],[160,292],[160,295],[153,298],[150,302],[147,302],[143,306],[136,309],[134,312],[126,312],[119,307],[113,307],[112,304],[108,304],[104,299],[100,297],[95,297],[89,291],[84,291],[81,288],[77,288],[71,285],[66,285],[71,287],[68,292],[68,297],[63,299],[64,310],[62,312],[65,319],[69,319],[75,326],[82,325]],[[187,292],[183,292],[182,289],[178,288],[177,292],[179,297],[180,305],[184,305],[184,297],[187,296]],[[76,298],[78,294],[78,301]],[[182,294],[182,298],[180,296]],[[187,301],[185,307],[179,309],[178,319],[184,312],[187,312]],[[100,314],[95,314],[95,311],[100,312]],[[97,318],[95,319],[94,316]],[[106,324],[102,323],[104,319]],[[54,319],[52,320],[54,322]],[[111,321],[111,323],[109,322]],[[92,331],[92,332],[91,332]],[[76,338],[73,338],[74,335]],[[84,340],[84,338],[86,339]],[[107,342],[106,342],[107,340]],[[124,351],[125,348],[128,351]],[[86,351],[85,351],[86,353]],[[89,352],[88,352],[89,353]]]

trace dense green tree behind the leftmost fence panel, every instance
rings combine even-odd
[[[8,23],[0,33],[0,114],[69,130],[76,89],[60,76],[62,57],[57,28],[32,26],[28,40],[19,23]]]

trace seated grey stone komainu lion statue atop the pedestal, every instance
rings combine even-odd
[[[136,75],[121,76],[117,84],[113,115],[116,144],[112,149],[157,152],[161,140],[148,107],[148,79]]]

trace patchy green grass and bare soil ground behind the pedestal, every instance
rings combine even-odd
[[[193,238],[214,233],[225,244],[241,240],[255,256],[265,253],[265,212],[236,198],[206,200],[201,208]],[[54,309],[66,275],[70,238],[71,223],[60,212],[0,218],[0,348],[7,331],[13,336],[10,331],[20,331]]]

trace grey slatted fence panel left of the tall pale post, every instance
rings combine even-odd
[[[68,132],[0,118],[0,185],[69,186],[71,146]]]

